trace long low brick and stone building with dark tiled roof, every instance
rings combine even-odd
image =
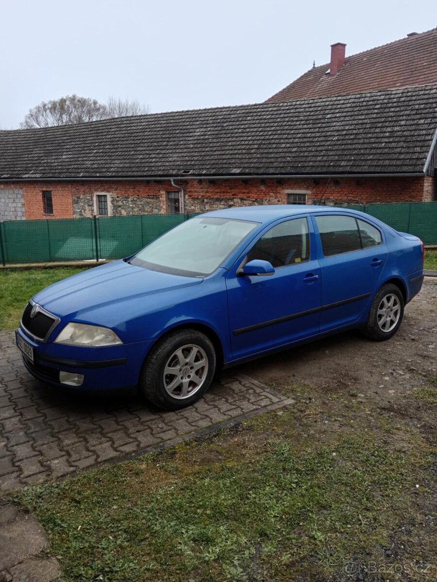
[[[0,219],[436,198],[437,86],[0,132]]]

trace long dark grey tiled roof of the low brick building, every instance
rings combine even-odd
[[[1,179],[422,173],[437,87],[0,132]]]

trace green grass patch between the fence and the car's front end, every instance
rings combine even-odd
[[[27,301],[35,293],[84,269],[4,269],[0,271],[0,329],[18,327]]]

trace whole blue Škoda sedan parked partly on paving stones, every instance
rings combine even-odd
[[[350,328],[391,338],[422,269],[420,239],[361,212],[218,210],[37,293],[16,341],[43,382],[180,409],[218,367]]]

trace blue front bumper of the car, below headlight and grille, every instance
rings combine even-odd
[[[136,386],[143,361],[154,342],[128,343],[110,347],[75,347],[54,343],[38,343],[22,329],[17,333],[33,347],[34,361],[23,357],[23,363],[33,377],[41,382],[71,388],[59,382],[59,372],[84,376],[75,389],[89,391],[113,390]]]

